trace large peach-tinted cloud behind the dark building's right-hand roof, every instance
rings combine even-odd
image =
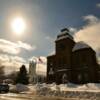
[[[84,41],[89,44],[97,54],[100,49],[100,19],[93,15],[83,17],[87,22],[82,29],[78,30],[74,38],[76,41]]]

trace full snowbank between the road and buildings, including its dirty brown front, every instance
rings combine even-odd
[[[25,93],[37,96],[78,98],[100,100],[100,84],[88,83],[84,85],[68,84],[35,84],[10,86],[10,92]]]

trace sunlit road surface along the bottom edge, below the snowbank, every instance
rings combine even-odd
[[[0,94],[0,100],[77,100],[77,99],[65,99],[65,98],[58,98],[58,97],[39,97],[35,95],[28,95],[28,94]]]

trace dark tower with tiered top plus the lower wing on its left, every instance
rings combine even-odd
[[[67,28],[61,30],[55,41],[55,55],[47,57],[47,81],[63,83],[71,80],[72,48],[75,42]],[[50,74],[52,69],[52,74]]]

